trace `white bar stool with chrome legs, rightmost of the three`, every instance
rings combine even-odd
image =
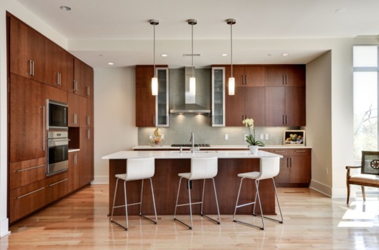
[[[234,214],[233,214],[233,221],[234,222],[239,222],[239,223],[241,223],[243,225],[247,225],[247,226],[251,226],[251,227],[256,227],[256,228],[261,229],[261,230],[265,229],[265,222],[263,221],[263,218],[267,218],[269,220],[274,220],[276,222],[283,223],[282,210],[280,209],[280,204],[279,204],[279,200],[278,200],[278,193],[276,192],[276,185],[275,185],[275,181],[274,181],[274,177],[279,174],[279,170],[280,170],[280,158],[278,158],[278,157],[275,157],[275,158],[260,158],[260,170],[259,170],[259,172],[254,171],[254,172],[249,172],[249,173],[238,174],[238,177],[241,177],[241,179],[240,179],[240,189],[242,187],[243,179],[249,178],[249,179],[255,180],[256,196],[255,196],[254,202],[249,202],[249,203],[238,205],[238,199],[240,197],[240,189],[238,190],[238,196],[237,196],[237,201],[236,201],[236,208],[234,209]],[[263,216],[262,206],[260,205],[260,197],[259,197],[258,187],[259,187],[259,181],[260,180],[265,180],[265,179],[272,179],[272,184],[274,185],[275,196],[276,196],[276,201],[278,202],[278,207],[279,207],[279,211],[280,211],[281,220],[276,220],[274,218],[269,218],[267,216]],[[255,213],[256,198],[257,197],[258,197],[259,208],[260,208],[260,213],[261,213],[260,217],[262,218],[262,227],[259,227],[257,225],[250,224],[250,223],[247,223],[247,222],[243,222],[243,221],[240,221],[240,220],[236,220],[236,211],[237,211],[237,208],[239,208],[239,207],[245,207],[247,205],[252,205],[252,204],[254,204],[253,215],[257,216],[256,213]]]

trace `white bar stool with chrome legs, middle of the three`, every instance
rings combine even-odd
[[[214,176],[217,175],[217,158],[216,157],[209,157],[209,158],[191,158],[191,172],[190,173],[181,173],[178,174],[178,176],[181,176],[181,179],[179,180],[179,187],[178,187],[178,195],[176,196],[176,205],[175,205],[175,211],[174,211],[174,220],[177,220],[178,222],[181,222],[181,224],[185,225],[189,229],[192,230],[192,205],[201,204],[201,216],[204,216],[205,218],[212,220],[213,222],[216,222],[218,225],[221,223],[220,218],[220,211],[218,209],[218,201],[217,201],[217,194],[216,194],[216,185],[214,185]],[[189,203],[186,204],[178,204],[178,198],[179,198],[179,191],[181,190],[181,182],[182,179],[186,178],[187,181],[187,188],[188,188],[188,196],[189,196]],[[192,180],[201,180],[203,179],[203,197],[201,198],[201,202],[194,202],[191,201],[191,185],[190,182]],[[212,179],[213,180],[213,188],[214,188],[214,197],[216,198],[216,207],[217,207],[217,213],[218,213],[218,221],[210,218],[209,216],[206,216],[203,213],[203,201],[204,201],[204,190],[205,190],[205,179]],[[179,220],[176,218],[176,208],[181,206],[187,206],[189,205],[189,217],[191,218],[191,226],[187,225],[185,222]]]

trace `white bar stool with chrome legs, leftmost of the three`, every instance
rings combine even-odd
[[[153,191],[153,184],[152,184],[152,176],[154,176],[155,171],[155,165],[154,165],[154,158],[132,158],[126,160],[126,174],[116,174],[115,177],[116,180],[116,188],[114,189],[114,198],[113,198],[113,207],[112,207],[112,216],[110,218],[111,222],[116,223],[120,227],[123,227],[127,231],[129,228],[129,222],[127,220],[127,207],[132,205],[139,205],[139,216],[146,218],[147,220],[150,220],[151,222],[158,221],[156,218],[156,208],[155,208],[155,200],[154,200],[154,191]],[[152,199],[153,199],[153,205],[154,205],[154,213],[155,213],[155,221],[147,218],[142,213],[142,196],[143,196],[143,180],[144,179],[150,179],[150,185],[152,187]],[[125,198],[125,205],[120,206],[114,206],[114,202],[116,201],[116,193],[117,193],[117,185],[119,184],[119,180],[124,180],[124,198]],[[133,204],[127,204],[127,198],[126,198],[126,182],[129,180],[142,180],[141,185],[141,200],[140,202],[136,202]],[[115,208],[118,207],[125,207],[125,217],[126,217],[126,227],[121,225],[119,222],[116,222],[113,220],[113,211]]]

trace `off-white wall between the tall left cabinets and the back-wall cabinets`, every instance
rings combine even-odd
[[[138,145],[132,68],[94,69],[94,181],[108,183],[102,156]]]

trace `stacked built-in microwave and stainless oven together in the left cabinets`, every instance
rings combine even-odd
[[[48,162],[46,174],[57,174],[68,169],[68,105],[47,100]]]

